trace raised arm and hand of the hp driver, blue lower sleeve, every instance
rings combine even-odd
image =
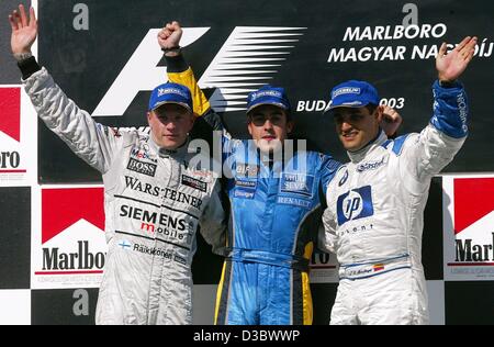
[[[434,83],[434,114],[430,124],[415,139],[395,142],[395,153],[407,158],[406,172],[423,181],[439,174],[460,150],[468,135],[469,103],[458,78],[472,60],[476,37],[465,37],[450,53],[442,44],[436,60],[438,80]],[[403,146],[403,148],[402,148]]]

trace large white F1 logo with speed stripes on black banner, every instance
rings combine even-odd
[[[191,45],[209,30],[210,27],[183,29],[180,46]],[[290,46],[282,52],[273,48],[280,48],[279,45],[285,44],[287,38],[297,42],[304,30],[305,27],[235,27],[198,82],[202,89],[216,89],[210,99],[213,109],[217,112],[245,110],[252,78],[256,83],[260,82],[258,87],[268,83],[273,74],[278,72],[280,61],[285,60],[290,53]],[[158,66],[162,59],[162,52],[156,44],[159,31],[160,29],[148,31],[92,116],[123,115],[139,91],[150,91],[167,79],[167,68]],[[259,61],[263,61],[261,66],[267,70],[258,69]]]

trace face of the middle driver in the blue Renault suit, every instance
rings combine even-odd
[[[274,105],[260,105],[247,116],[249,133],[263,153],[281,149],[288,134],[293,130],[293,122],[288,121],[287,112]]]

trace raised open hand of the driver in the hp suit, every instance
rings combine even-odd
[[[440,81],[453,82],[467,69],[475,53],[476,37],[467,36],[450,53],[444,43],[436,57],[436,68]]]

